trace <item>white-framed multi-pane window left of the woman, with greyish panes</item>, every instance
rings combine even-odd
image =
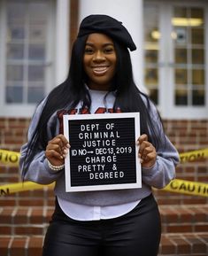
[[[54,86],[51,1],[0,1],[0,114],[34,110]],[[27,108],[26,108],[27,107]],[[3,111],[4,110],[4,111]],[[30,112],[30,111],[29,111]],[[30,112],[31,114],[31,112]]]

